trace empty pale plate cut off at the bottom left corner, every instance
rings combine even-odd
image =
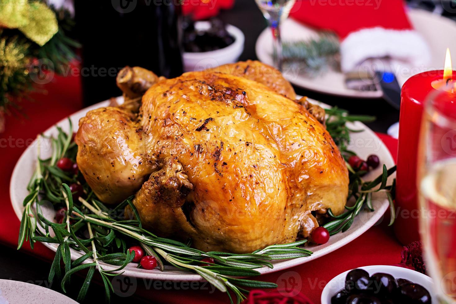
[[[68,298],[66,295],[60,294],[46,286],[1,279],[0,304],[17,303],[78,304],[78,302]]]

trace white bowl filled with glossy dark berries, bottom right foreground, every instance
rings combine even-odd
[[[431,304],[432,279],[408,268],[365,266],[339,274],[323,289],[322,304]]]

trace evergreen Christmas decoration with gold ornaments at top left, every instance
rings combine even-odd
[[[67,36],[73,21],[65,10],[41,0],[0,0],[0,133],[5,113],[22,113],[19,102],[41,83],[38,72],[62,68],[76,55],[79,44]],[[32,62],[51,62],[47,71]],[[57,70],[58,72],[59,70]]]

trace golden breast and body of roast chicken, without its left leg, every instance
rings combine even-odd
[[[193,185],[182,212],[166,213],[170,229],[148,220],[160,209],[135,199],[152,231],[185,222],[177,234],[197,248],[251,252],[308,234],[313,210],[344,208],[347,168],[329,134],[258,82],[185,73],[150,88],[141,112],[146,153],[177,157]]]

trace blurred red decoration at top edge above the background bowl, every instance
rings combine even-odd
[[[233,8],[234,0],[184,0],[181,4],[184,15],[193,20],[208,19],[218,15],[220,10]]]

